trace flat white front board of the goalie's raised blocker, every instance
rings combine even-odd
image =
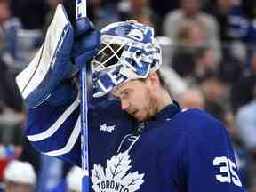
[[[35,58],[28,64],[28,67],[16,77],[16,82],[24,99],[44,80],[51,65],[54,65],[55,52],[60,46],[58,43],[60,38],[63,38],[63,32],[67,25],[68,18],[65,15],[64,7],[59,4],[47,30],[44,44],[36,53]]]

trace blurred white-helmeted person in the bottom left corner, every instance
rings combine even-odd
[[[5,192],[32,192],[36,173],[31,164],[12,160],[4,170]]]

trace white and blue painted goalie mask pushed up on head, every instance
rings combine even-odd
[[[100,33],[100,50],[91,61],[93,97],[128,80],[146,78],[162,64],[153,28],[128,20],[112,23]]]

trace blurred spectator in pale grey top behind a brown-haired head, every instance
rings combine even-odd
[[[183,28],[184,24],[187,25],[186,23],[192,21],[201,23],[200,25],[204,28],[205,43],[212,47],[216,57],[220,59],[219,26],[217,21],[212,15],[201,11],[199,0],[181,0],[180,4],[180,9],[169,12],[166,15],[163,24],[164,36],[169,36],[174,43],[179,44],[177,37],[180,28]]]

